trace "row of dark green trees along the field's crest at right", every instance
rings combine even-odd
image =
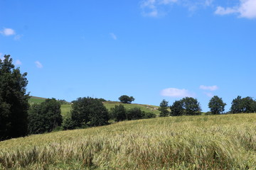
[[[256,101],[252,97],[242,98],[238,96],[233,99],[230,111],[227,113],[256,113]],[[210,112],[207,114],[223,114],[225,111],[225,106],[227,104],[223,102],[223,99],[218,96],[213,96],[210,98],[208,103],[208,108]],[[177,116],[177,115],[200,115],[201,107],[200,103],[196,98],[186,97],[181,100],[174,101],[174,103],[169,106],[169,102],[166,100],[161,101],[159,108],[160,117],[165,116]]]

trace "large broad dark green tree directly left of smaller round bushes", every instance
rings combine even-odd
[[[71,120],[73,127],[107,125],[109,116],[107,108],[97,98],[78,98],[72,102]]]

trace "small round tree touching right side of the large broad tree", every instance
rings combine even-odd
[[[110,118],[114,121],[122,121],[126,119],[126,109],[122,104],[114,106],[114,108],[110,109]]]

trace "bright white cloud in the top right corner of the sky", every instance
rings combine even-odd
[[[215,14],[228,15],[236,13],[241,18],[256,18],[256,1],[255,0],[240,0],[239,6],[227,7],[218,6]]]

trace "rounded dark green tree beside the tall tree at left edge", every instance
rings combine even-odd
[[[60,113],[60,103],[55,98],[33,104],[28,111],[28,132],[30,134],[51,132],[63,122]]]

